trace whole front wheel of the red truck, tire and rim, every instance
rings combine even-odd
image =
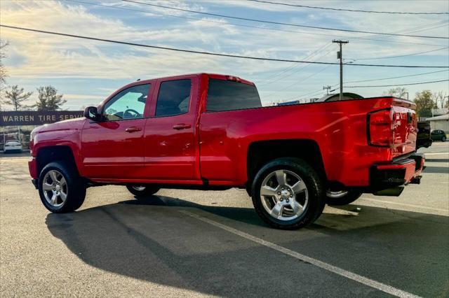
[[[86,198],[86,185],[73,166],[65,162],[47,164],[39,175],[39,197],[53,213],[72,212]]]

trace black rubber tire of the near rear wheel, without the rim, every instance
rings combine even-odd
[[[297,217],[292,220],[274,218],[274,216],[270,215],[264,208],[262,203],[262,197],[260,196],[262,183],[265,178],[269,177],[271,173],[277,170],[295,173],[307,187],[307,206],[305,206],[304,211],[302,211],[300,215],[297,215]],[[253,194],[253,205],[257,215],[259,215],[264,222],[267,222],[268,225],[275,227],[276,229],[300,229],[301,227],[305,227],[319,218],[325,205],[323,181],[319,174],[312,166],[307,164],[307,162],[304,162],[304,160],[293,157],[282,157],[265,164],[262,169],[257,172],[253,180],[251,193]],[[295,197],[297,198],[297,195]],[[283,211],[281,211],[281,215],[283,214],[282,212]]]

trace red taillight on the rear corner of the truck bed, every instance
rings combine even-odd
[[[393,143],[393,111],[381,110],[368,114],[368,144],[390,147]]]

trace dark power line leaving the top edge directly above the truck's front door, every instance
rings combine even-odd
[[[373,32],[373,31],[358,31],[358,30],[351,30],[351,29],[337,29],[337,28],[330,28],[330,27],[317,27],[317,26],[309,26],[304,24],[291,24],[291,23],[284,23],[284,22],[274,22],[274,21],[267,21],[267,20],[258,20],[258,19],[250,19],[248,17],[233,17],[232,15],[221,15],[218,13],[205,13],[203,11],[198,10],[190,10],[185,8],[175,8],[171,6],[163,6],[159,4],[152,4],[152,3],[145,3],[145,2],[139,2],[134,0],[121,0],[124,2],[129,3],[137,3],[147,6],[154,6],[154,7],[160,7],[160,8],[167,8],[167,9],[173,9],[173,10],[180,10],[185,11],[187,13],[200,13],[201,15],[213,15],[215,17],[227,17],[230,19],[235,20],[245,20],[245,21],[251,21],[251,22],[262,22],[267,24],[279,24],[279,25],[285,25],[285,26],[293,26],[293,27],[304,27],[304,28],[312,28],[312,29],[322,29],[322,30],[331,30],[331,31],[344,31],[344,32],[356,32],[356,33],[367,33],[367,34],[380,34],[380,35],[389,35],[389,36],[407,36],[407,37],[419,37],[419,38],[438,38],[438,39],[449,39],[449,37],[445,36],[426,36],[426,35],[410,35],[410,34],[395,34],[395,33],[382,33],[382,32]]]

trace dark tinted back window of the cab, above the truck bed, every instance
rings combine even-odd
[[[232,111],[261,106],[255,86],[232,80],[209,79],[207,111]]]

